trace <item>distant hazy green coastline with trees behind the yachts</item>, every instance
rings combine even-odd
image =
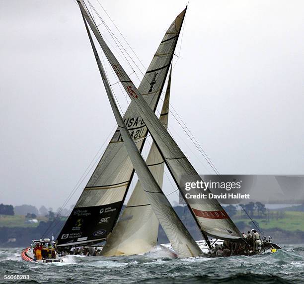
[[[241,213],[241,210],[237,210],[235,206],[229,206],[230,207],[226,207],[226,210],[241,232],[243,231],[246,233],[254,227],[244,213]],[[34,206],[23,208],[25,208],[25,211],[31,208],[32,212],[39,214],[39,210]],[[197,229],[189,209],[184,206],[175,206],[174,210],[177,212],[192,236],[196,240],[201,239],[201,234]],[[0,214],[0,247],[26,247],[33,239],[41,238],[46,229],[52,224],[53,229],[51,234],[53,233],[54,238],[56,238],[60,228],[64,225],[67,219],[67,216],[57,217],[56,222],[54,222],[56,225],[54,225],[53,220],[56,218],[57,213],[52,211],[43,211],[43,213],[47,213],[45,216],[37,216],[32,212],[27,212],[25,214],[25,211],[21,211],[23,215]],[[17,212],[20,212],[20,208],[17,208]],[[304,205],[284,207],[275,210],[267,209],[263,213],[253,210],[250,215],[253,215],[255,223],[258,224],[265,236],[274,237],[274,241],[276,243],[304,243]],[[37,222],[32,222],[31,220],[37,220]],[[166,235],[162,228],[159,227],[158,243],[167,242],[168,239]]]

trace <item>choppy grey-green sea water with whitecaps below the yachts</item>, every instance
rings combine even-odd
[[[66,256],[63,263],[21,260],[21,248],[0,248],[4,275],[29,275],[19,283],[304,283],[304,245],[271,255],[172,259],[163,251],[132,257]]]

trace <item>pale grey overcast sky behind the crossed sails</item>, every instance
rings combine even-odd
[[[146,67],[186,4],[101,2]],[[58,208],[115,119],[73,0],[0,7],[0,203]],[[171,103],[222,174],[303,174],[303,10],[301,0],[190,1]],[[172,116],[169,129],[196,170],[212,173]]]

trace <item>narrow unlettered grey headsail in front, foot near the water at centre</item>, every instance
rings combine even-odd
[[[172,208],[170,202],[160,189],[159,185],[155,181],[148,165],[145,163],[141,152],[139,151],[136,143],[133,141],[121,114],[118,110],[110,84],[105,76],[103,67],[99,61],[99,70],[103,80],[103,84],[106,89],[115,119],[118,124],[118,128],[123,137],[124,144],[126,146],[128,155],[134,169],[139,177],[141,185],[146,193],[146,196],[151,203],[153,212],[155,213],[161,227],[166,233],[173,249],[180,257],[193,257],[202,254],[198,244],[192,238],[182,221],[177,216],[176,212]],[[160,123],[160,122],[159,122]]]

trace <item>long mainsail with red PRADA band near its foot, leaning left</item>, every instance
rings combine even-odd
[[[188,177],[188,182],[202,181],[201,177],[198,175],[171,135],[159,122],[158,118],[145,101],[144,96],[141,95],[118,60],[115,58],[114,54],[108,48],[107,44],[96,28],[83,0],[77,0],[77,2],[108,61],[116,72],[118,79],[129,94],[132,101],[135,103],[141,117],[144,119],[145,124],[148,127],[158,149],[160,150],[160,153],[162,154],[172,177],[174,178],[176,184],[180,187],[181,193],[184,194],[183,188],[179,185],[181,176],[186,175]],[[180,14],[181,18],[183,18],[183,16],[184,12]],[[207,194],[209,192],[209,189],[205,191]],[[193,189],[192,193],[198,194],[201,193],[201,191]],[[227,240],[237,240],[242,238],[239,230],[216,199],[200,199],[199,203],[188,199],[186,202],[188,203],[188,206],[203,233]]]

